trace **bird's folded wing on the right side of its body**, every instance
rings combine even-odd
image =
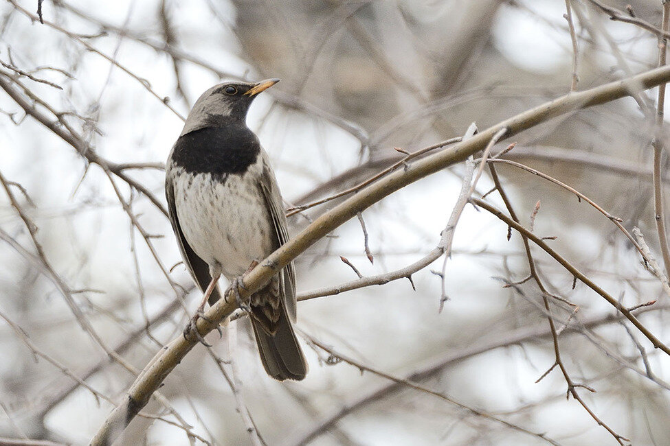
[[[274,227],[279,246],[289,241],[289,231],[287,230],[286,214],[284,214],[284,203],[282,202],[282,194],[277,185],[277,179],[270,168],[269,161],[265,152],[263,153],[263,175],[260,176],[260,191],[265,198],[265,204],[272,218],[272,225]],[[279,247],[277,246],[277,248]],[[295,320],[295,268],[291,261],[282,270],[281,281],[287,312],[291,320]]]

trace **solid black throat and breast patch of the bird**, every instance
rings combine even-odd
[[[184,134],[172,148],[172,162],[192,174],[225,180],[244,174],[260,152],[258,138],[243,123],[207,127]]]

